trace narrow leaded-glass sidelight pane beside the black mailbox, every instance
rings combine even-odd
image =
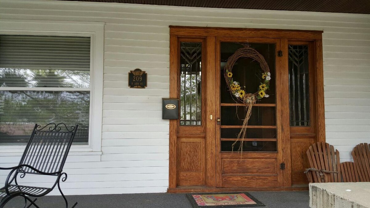
[[[202,125],[202,43],[180,43],[180,125]]]

